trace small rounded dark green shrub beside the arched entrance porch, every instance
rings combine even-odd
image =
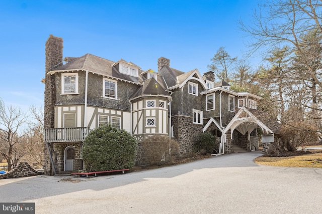
[[[195,140],[194,150],[196,152],[200,152],[205,150],[208,153],[212,153],[213,149],[218,150],[218,142],[216,140],[216,136],[212,135],[209,132],[204,132],[198,135],[197,139]]]

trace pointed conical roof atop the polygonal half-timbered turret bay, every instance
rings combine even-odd
[[[169,97],[170,91],[166,90],[162,84],[160,84],[158,81],[156,81],[153,77],[150,79],[147,79],[143,82],[143,85],[140,86],[130,97],[130,100],[142,97],[142,96],[164,96]]]

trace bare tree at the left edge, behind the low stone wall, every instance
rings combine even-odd
[[[17,149],[25,134],[19,133],[20,128],[26,122],[28,116],[19,107],[10,106],[7,109],[2,104],[0,108],[0,154],[8,163],[8,170],[15,167],[19,159],[24,155]]]

